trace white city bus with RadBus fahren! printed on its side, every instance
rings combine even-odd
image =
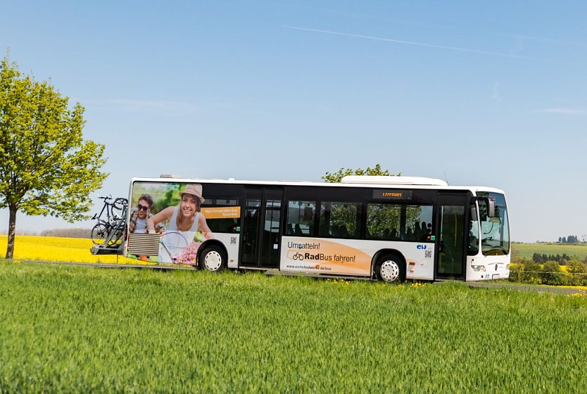
[[[490,187],[134,178],[129,202],[125,256],[139,260],[388,282],[510,274],[505,194]]]

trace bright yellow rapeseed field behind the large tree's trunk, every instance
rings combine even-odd
[[[0,235],[0,256],[6,255],[8,236]],[[137,264],[139,261],[116,255],[92,255],[90,239],[62,238],[57,236],[17,235],[14,258],[18,260],[44,260],[68,262],[108,262]]]

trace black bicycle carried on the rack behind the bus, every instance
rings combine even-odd
[[[112,196],[100,196],[99,198],[104,201],[104,205],[100,213],[96,213],[92,217],[93,220],[98,220],[98,223],[91,229],[91,241],[96,245],[101,245],[104,241],[108,240],[108,245],[113,246],[122,239],[125,233],[125,226],[121,226],[120,221],[124,220],[128,200],[118,197],[115,198],[113,203],[108,203],[108,200],[111,200]],[[106,220],[102,218],[105,210]],[[111,236],[113,230],[116,232]]]

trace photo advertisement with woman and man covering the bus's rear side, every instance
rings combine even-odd
[[[201,184],[134,182],[130,196],[127,258],[196,265],[202,243],[217,239],[229,255],[238,254],[239,206],[206,206]],[[233,259],[234,261],[234,259]]]

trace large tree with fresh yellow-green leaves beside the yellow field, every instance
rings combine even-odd
[[[108,174],[104,146],[84,141],[84,108],[61,96],[49,82],[21,76],[8,54],[0,64],[0,208],[8,208],[12,258],[16,212],[86,219],[89,193]]]

